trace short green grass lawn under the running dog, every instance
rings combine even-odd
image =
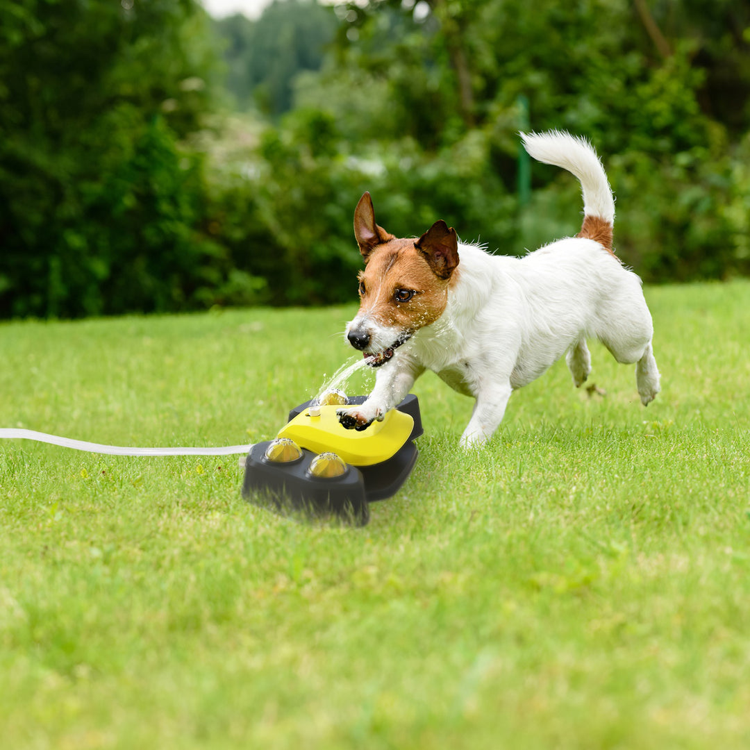
[[[746,748],[750,283],[646,290],[662,392],[592,346],[425,435],[363,529],[248,505],[237,458],[0,443],[7,748]],[[0,426],[268,439],[353,308],[0,326]],[[365,389],[367,380],[355,390]]]

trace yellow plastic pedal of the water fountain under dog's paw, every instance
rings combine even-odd
[[[297,445],[314,453],[334,452],[353,466],[372,466],[392,458],[409,440],[413,418],[392,409],[383,422],[373,422],[366,430],[347,430],[338,421],[333,404],[321,406],[320,416],[305,409],[287,422],[277,437],[289,437]]]

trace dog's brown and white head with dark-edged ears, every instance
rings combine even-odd
[[[370,193],[354,211],[354,234],[365,269],[359,273],[359,312],[346,336],[369,365],[380,367],[445,311],[458,237],[441,219],[419,239],[398,239],[375,223]]]

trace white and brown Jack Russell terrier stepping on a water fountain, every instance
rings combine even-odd
[[[338,410],[346,428],[365,429],[407,395],[430,369],[476,399],[461,446],[497,429],[511,392],[563,354],[575,386],[591,371],[586,338],[622,364],[635,363],[640,401],[659,392],[651,314],[641,281],[612,250],[614,199],[592,145],[569,133],[521,134],[536,160],[572,172],[583,191],[575,237],[523,258],[490,255],[459,242],[436,221],[419,239],[398,239],[375,223],[370,193],[354,212],[365,269],[360,307],[345,332],[368,365],[380,368],[364,404]]]

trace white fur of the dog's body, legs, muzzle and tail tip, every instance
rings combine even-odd
[[[579,178],[586,215],[613,220],[614,202],[596,152],[568,133],[522,136],[532,156]],[[640,400],[659,391],[652,322],[640,279],[598,242],[561,239],[526,257],[487,254],[458,245],[460,262],[446,311],[400,347],[377,372],[373,392],[350,412],[369,422],[395,407],[426,369],[476,398],[461,445],[484,443],[505,413],[511,392],[539,377],[565,355],[574,384],[589,374],[586,338],[604,343],[617,362],[637,363]],[[361,325],[355,319],[347,327]],[[369,326],[374,340],[398,332]],[[347,410],[341,410],[345,412]]]

